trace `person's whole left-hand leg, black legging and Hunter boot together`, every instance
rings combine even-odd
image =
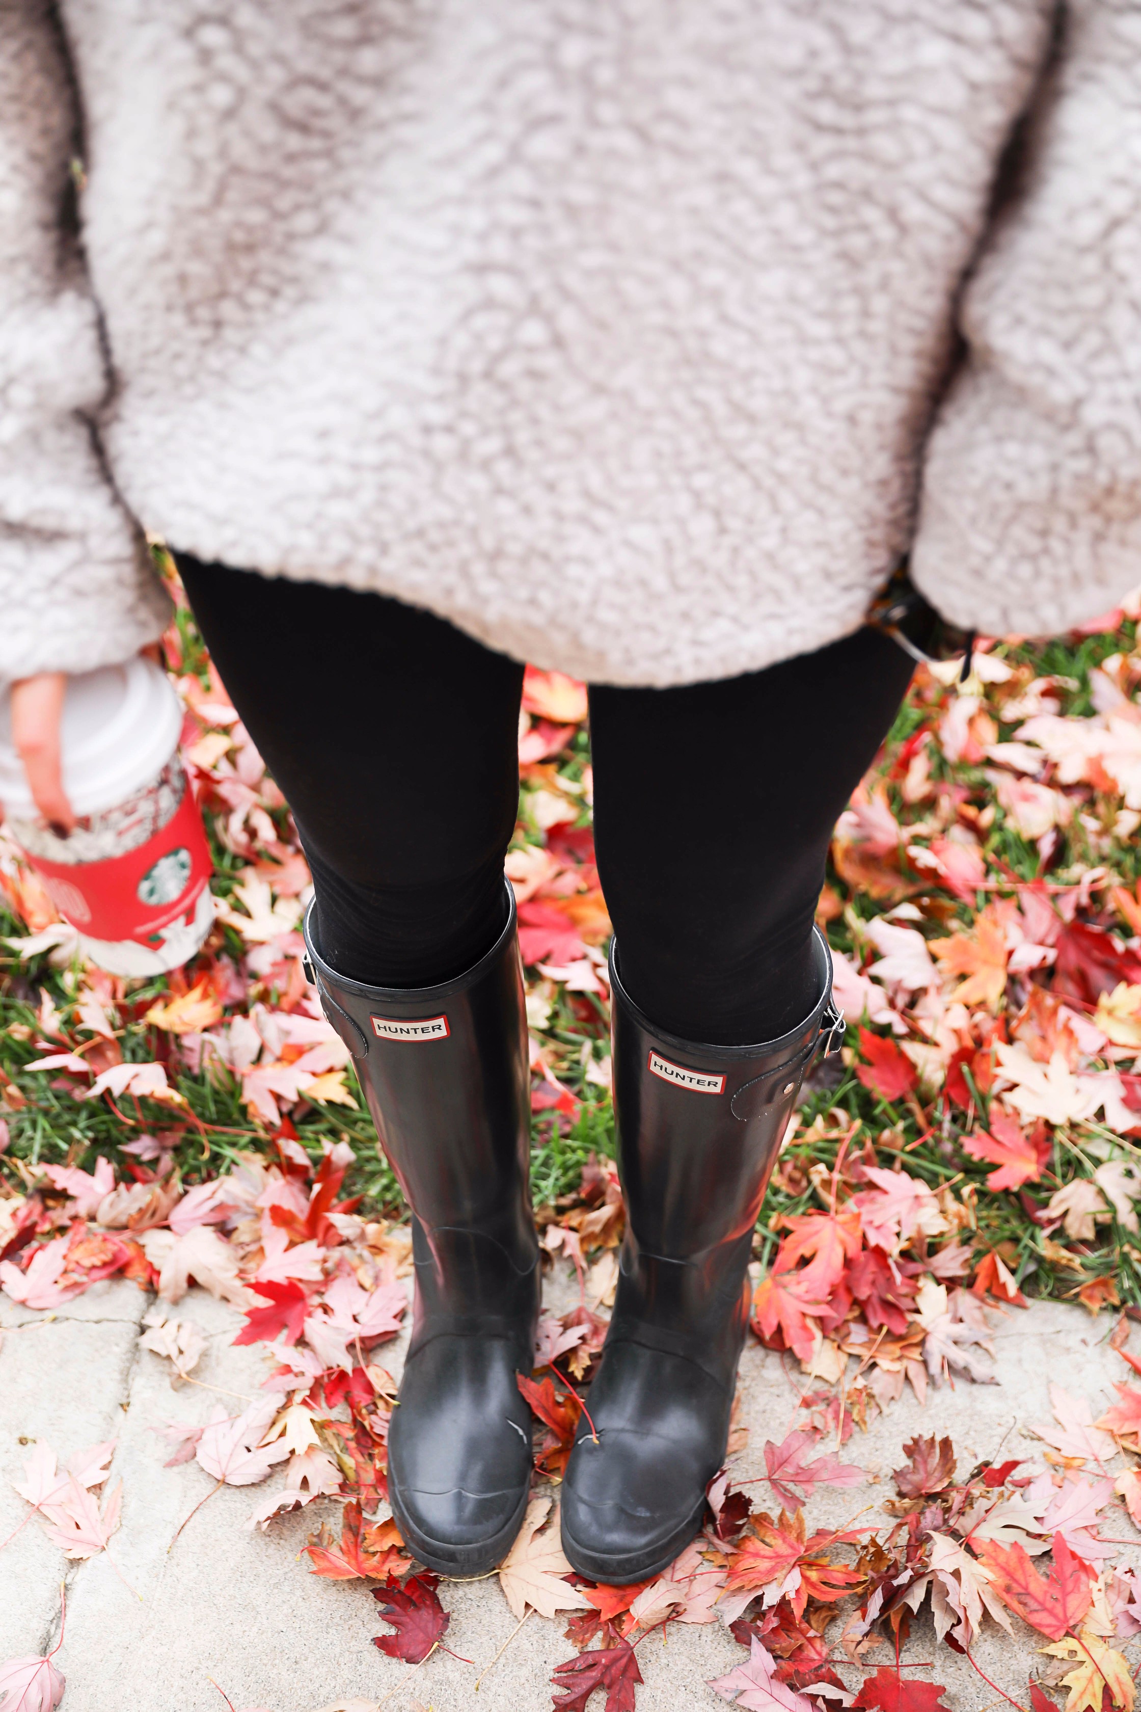
[[[393,1515],[429,1568],[479,1575],[527,1508],[517,1375],[530,1371],[539,1311],[527,1020],[503,877],[522,666],[399,601],[181,568],[298,817],[322,1005],[412,1209]]]

